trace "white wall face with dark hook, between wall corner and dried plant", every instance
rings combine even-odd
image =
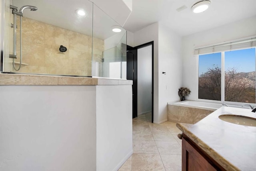
[[[167,121],[167,103],[180,99],[182,86],[182,37],[163,24],[159,24],[158,60],[158,120],[163,122]]]

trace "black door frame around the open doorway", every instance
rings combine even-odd
[[[149,46],[149,45],[152,45],[152,108],[151,108],[152,120],[151,120],[151,122],[153,123],[154,122],[154,41],[150,41],[148,43],[144,43],[142,45],[135,46],[134,49],[137,49],[137,51],[138,51],[138,49],[140,49],[142,47]],[[137,55],[137,57],[138,57],[138,55]],[[137,77],[137,68],[138,68],[138,66],[136,65],[136,77]],[[137,84],[137,82],[136,82],[136,84]],[[137,85],[136,85],[136,88],[137,88]],[[138,94],[137,91],[136,91],[136,93]],[[138,100],[136,100],[136,101],[138,102]]]

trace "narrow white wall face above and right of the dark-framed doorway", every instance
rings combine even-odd
[[[158,23],[134,33],[134,46],[154,41],[154,122],[158,121]]]

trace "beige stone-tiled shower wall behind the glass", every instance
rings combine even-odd
[[[19,28],[19,20],[18,20]],[[19,42],[19,29],[17,30]],[[104,40],[93,39],[95,60],[101,65]],[[60,45],[68,50],[60,52]],[[17,55],[20,57],[17,43]],[[92,37],[29,18],[22,18],[20,73],[92,76]],[[16,59],[19,61],[19,59]],[[16,65],[16,68],[18,65]]]

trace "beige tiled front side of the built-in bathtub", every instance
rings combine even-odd
[[[168,121],[176,123],[182,122],[186,124],[195,124],[213,112],[212,110],[175,106],[171,104],[167,105],[167,111]]]

